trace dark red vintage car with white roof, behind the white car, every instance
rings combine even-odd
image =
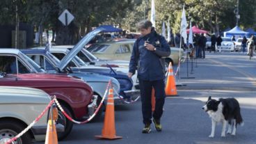
[[[49,95],[56,95],[63,109],[78,120],[94,109],[97,98],[93,89],[81,79],[60,74],[46,74],[39,65],[18,49],[0,49],[0,86],[25,86],[44,90]],[[94,102],[92,102],[94,101]],[[58,133],[58,139],[65,138],[72,130],[73,122],[59,113],[58,121],[65,126],[65,131]]]

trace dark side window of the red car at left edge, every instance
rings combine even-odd
[[[16,56],[0,56],[0,72],[17,74]]]

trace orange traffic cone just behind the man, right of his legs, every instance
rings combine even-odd
[[[173,66],[172,63],[169,64],[168,67],[168,77],[166,81],[166,96],[175,96],[177,95],[176,85],[175,85],[175,78],[173,75]]]

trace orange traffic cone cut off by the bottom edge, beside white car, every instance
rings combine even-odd
[[[55,122],[51,119],[48,120],[45,144],[58,144],[58,136],[56,132]]]

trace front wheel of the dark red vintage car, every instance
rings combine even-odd
[[[67,109],[67,107],[64,104],[61,104],[63,107],[63,110],[67,113],[67,115],[70,115],[72,118],[72,114],[70,112],[70,109]],[[58,111],[58,120],[56,123],[59,123],[65,127],[65,130],[63,132],[58,132],[58,140],[63,140],[67,137],[68,134],[72,131],[73,122],[68,120],[65,115],[59,110]]]

